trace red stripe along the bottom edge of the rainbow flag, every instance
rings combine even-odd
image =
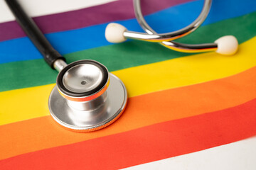
[[[22,154],[2,160],[0,169],[120,169],[253,135],[256,135],[256,99],[223,111]]]

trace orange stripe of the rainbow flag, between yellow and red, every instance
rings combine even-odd
[[[63,130],[49,116],[2,125],[0,159],[237,106],[255,98],[255,81],[253,67],[225,79],[129,98],[116,123],[86,134]]]

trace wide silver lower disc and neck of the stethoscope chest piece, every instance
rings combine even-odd
[[[60,96],[55,86],[49,97],[50,115],[70,130],[93,131],[105,128],[124,111],[127,91],[122,81],[110,73],[110,86],[105,93],[106,96],[96,98],[92,103],[74,104]],[[104,101],[102,105],[99,104],[101,101]]]

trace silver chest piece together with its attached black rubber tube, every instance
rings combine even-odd
[[[16,0],[5,1],[48,65],[59,72],[48,101],[53,119],[79,132],[100,130],[117,120],[127,104],[122,81],[94,60],[66,64],[21,5]]]

